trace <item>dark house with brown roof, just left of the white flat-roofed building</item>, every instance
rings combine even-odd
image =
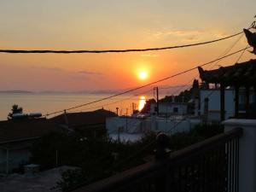
[[[106,133],[106,119],[117,116],[105,109],[90,112],[62,113],[49,121],[67,131],[78,131],[84,137],[99,137]]]

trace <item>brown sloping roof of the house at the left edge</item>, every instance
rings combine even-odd
[[[42,137],[49,131],[60,131],[47,119],[15,119],[0,121],[0,143]]]

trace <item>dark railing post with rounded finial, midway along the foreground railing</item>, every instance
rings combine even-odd
[[[169,147],[170,138],[165,134],[160,132],[156,136],[156,150],[155,150],[155,161],[160,162],[168,158],[170,154]],[[166,166],[165,170],[162,170],[160,176],[155,179],[155,189],[156,191],[169,191],[168,180],[169,180],[169,166]]]

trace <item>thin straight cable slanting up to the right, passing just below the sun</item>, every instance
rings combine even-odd
[[[126,90],[126,91],[124,91],[124,92],[115,94],[115,95],[113,95],[113,96],[107,96],[107,97],[104,97],[104,98],[102,98],[102,99],[98,99],[98,100],[93,101],[93,102],[87,102],[87,103],[84,103],[84,104],[81,104],[81,105],[78,105],[78,106],[74,106],[74,107],[72,107],[72,108],[66,108],[66,109],[63,109],[63,110],[59,110],[59,111],[56,111],[56,112],[54,112],[54,113],[47,113],[47,114],[44,115],[44,116],[52,115],[52,114],[55,114],[55,113],[61,113],[61,112],[63,112],[64,110],[69,111],[69,110],[72,110],[72,109],[75,109],[75,108],[81,108],[81,107],[84,107],[84,106],[87,106],[87,105],[90,105],[90,104],[93,104],[93,103],[96,103],[96,102],[102,102],[102,101],[111,99],[111,98],[116,97],[116,96],[125,95],[126,93],[130,93],[130,92],[132,92],[132,91],[134,91],[134,90],[140,90],[140,89],[143,89],[144,87],[148,87],[149,85],[157,84],[157,83],[160,83],[160,82],[165,81],[165,80],[167,80],[167,79],[172,79],[172,78],[177,77],[177,76],[179,76],[179,75],[181,75],[181,74],[183,74],[183,73],[189,73],[189,72],[191,72],[191,71],[197,69],[197,67],[204,67],[204,66],[207,66],[207,65],[211,64],[212,62],[215,62],[215,61],[218,61],[218,60],[222,60],[222,59],[224,59],[224,58],[226,58],[226,57],[229,57],[229,56],[231,56],[231,55],[235,55],[235,54],[240,53],[241,51],[243,51],[243,50],[245,50],[245,49],[248,49],[248,48],[249,48],[249,47],[244,48],[244,49],[237,50],[237,51],[235,51],[235,52],[233,52],[233,53],[230,53],[229,55],[224,55],[224,56],[222,56],[222,57],[219,57],[218,59],[215,59],[215,60],[206,62],[206,63],[201,64],[201,65],[196,66],[196,67],[189,68],[189,69],[187,69],[187,70],[185,70],[185,71],[183,71],[183,72],[173,74],[173,75],[171,75],[171,76],[169,76],[169,77],[166,77],[166,78],[164,78],[164,79],[159,79],[159,80],[154,81],[154,82],[152,82],[152,83],[144,84],[144,85],[139,86],[139,87],[137,87],[137,88],[134,88],[134,89],[131,89],[131,90]]]

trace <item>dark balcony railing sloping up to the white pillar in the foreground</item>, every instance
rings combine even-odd
[[[241,134],[224,132],[74,192],[237,192]]]

